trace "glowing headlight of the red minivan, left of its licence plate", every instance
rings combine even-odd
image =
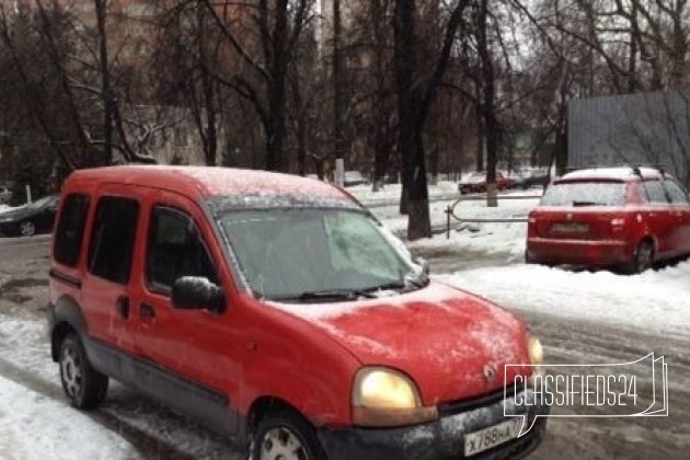
[[[436,406],[425,407],[414,382],[384,367],[359,370],[353,387],[353,422],[360,426],[399,426],[438,417]]]

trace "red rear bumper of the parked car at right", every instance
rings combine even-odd
[[[607,267],[632,260],[633,248],[619,240],[556,240],[529,238],[527,258],[542,264],[570,264]]]

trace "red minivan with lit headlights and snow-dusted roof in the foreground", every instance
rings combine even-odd
[[[74,406],[95,407],[113,378],[253,460],[516,458],[545,430],[539,391],[504,393],[542,360],[522,321],[429,280],[366,209],[314,180],[72,173],[48,317]],[[517,411],[538,418],[524,436],[506,394],[532,400]]]

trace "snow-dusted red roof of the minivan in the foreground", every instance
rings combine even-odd
[[[70,181],[154,186],[191,198],[210,196],[310,196],[345,198],[324,182],[267,171],[208,166],[127,165],[79,170]]]

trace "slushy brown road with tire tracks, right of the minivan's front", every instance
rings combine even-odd
[[[653,335],[640,330],[557,315],[520,311],[542,340],[547,364],[616,364],[654,352],[668,365],[666,417],[552,418],[547,438],[531,459],[686,458],[690,449],[690,338]],[[548,365],[547,365],[548,369]],[[628,368],[630,369],[630,368]],[[642,367],[635,367],[641,370]],[[620,369],[611,368],[620,372]],[[639,377],[637,393],[652,394],[652,379]],[[610,407],[586,413],[610,414]],[[577,413],[577,411],[575,411]]]

